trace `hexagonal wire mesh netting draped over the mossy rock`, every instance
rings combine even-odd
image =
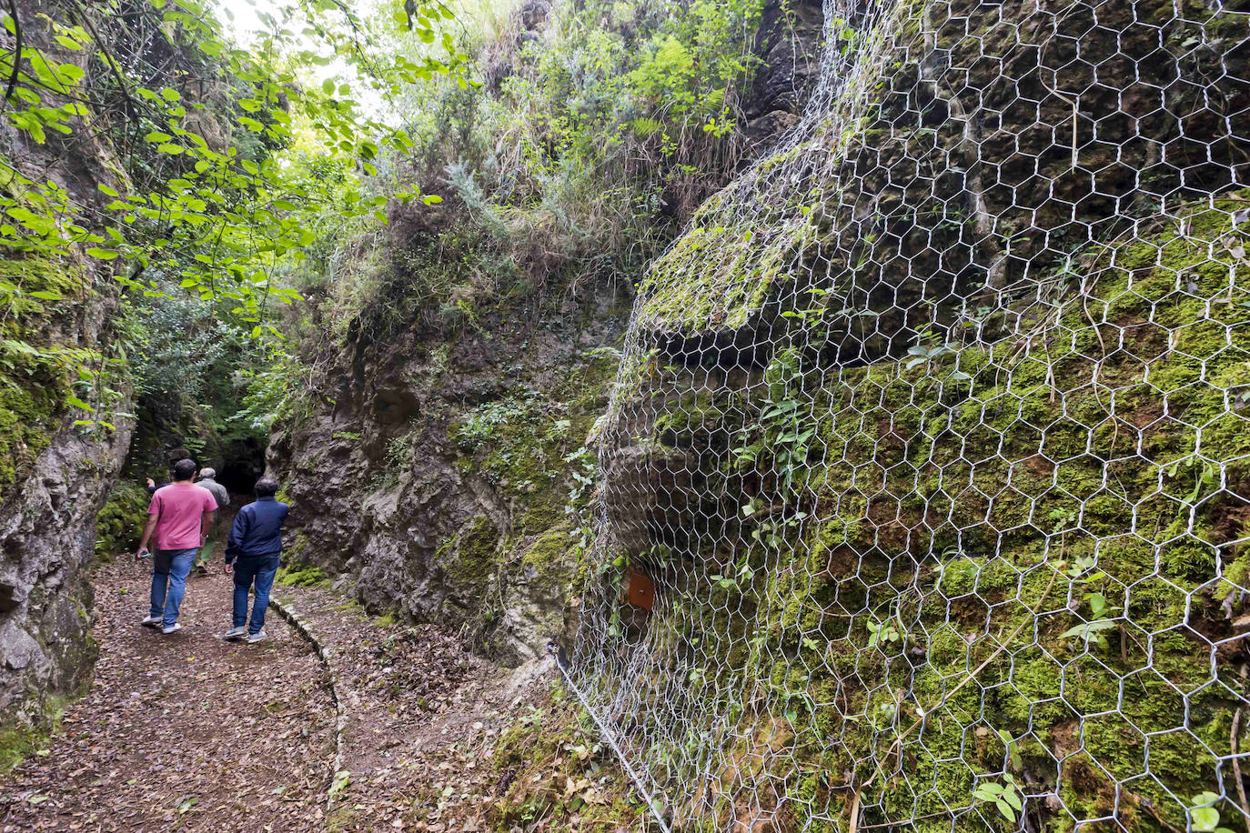
[[[675,829],[1250,829],[1236,6],[826,0],[600,440],[572,676]]]

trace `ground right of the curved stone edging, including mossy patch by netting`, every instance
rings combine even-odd
[[[649,829],[611,752],[552,688],[550,661],[501,668],[330,588],[275,589],[326,652],[342,703],[329,831]]]

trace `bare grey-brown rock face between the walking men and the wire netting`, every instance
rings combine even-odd
[[[756,151],[806,100],[820,36],[819,4],[799,4],[796,17],[780,9],[768,4],[760,21],[764,60],[745,102]],[[518,44],[550,20],[546,2],[522,4]],[[488,81],[515,60],[488,60]],[[396,249],[430,234],[399,220],[391,230]],[[571,293],[538,290],[471,325],[435,326],[418,310],[394,338],[352,335],[330,373],[334,402],[282,427],[270,448],[295,507],[290,557],[344,573],[370,609],[461,627],[504,659],[569,637],[569,589],[589,536],[585,443],[606,408],[632,297],[624,281],[571,283]]]

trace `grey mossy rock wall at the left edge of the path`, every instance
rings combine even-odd
[[[28,44],[49,37],[36,11],[21,9],[22,20],[30,21]],[[6,126],[0,130],[0,152],[18,171],[55,180],[80,205],[99,210],[102,195],[96,186],[116,186],[119,167],[89,134],[81,129],[40,145]],[[0,280],[61,298],[8,317],[0,328],[4,338],[49,355],[91,352],[95,357],[86,361],[105,366],[119,301],[108,271],[78,257],[48,260],[10,251],[0,260]],[[95,517],[121,467],[131,425],[114,418],[112,428],[75,426],[89,415],[69,413],[71,366],[42,357],[6,358],[14,363],[0,373],[0,732],[21,732],[42,728],[49,708],[90,679],[86,569]],[[105,371],[99,381],[120,396],[106,401],[99,393],[76,393],[105,415],[128,412],[126,380]]]

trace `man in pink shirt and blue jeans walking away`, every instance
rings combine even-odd
[[[180,460],[174,463],[174,481],[152,493],[148,507],[148,523],[139,541],[136,558],[148,555],[148,541],[154,540],[152,596],[148,618],[142,624],[176,633],[182,629],[178,622],[178,608],[186,593],[186,577],[195,563],[195,552],[204,546],[218,501],[206,488],[200,488],[191,478],[195,462]]]

